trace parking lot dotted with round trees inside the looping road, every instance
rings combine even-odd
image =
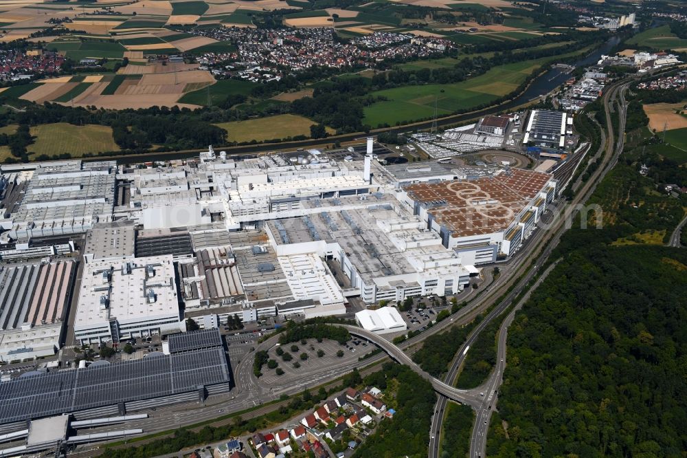
[[[349,340],[346,345],[339,345],[339,342],[335,340],[317,342],[316,339],[308,339],[305,345],[301,344],[301,342],[295,342],[280,345],[279,347],[272,347],[268,351],[269,359],[278,362],[278,367],[284,371],[284,374],[277,375],[276,368],[269,369],[267,364],[265,364],[262,367],[263,375],[260,377],[260,384],[269,386],[295,382],[305,375],[355,362],[358,360],[359,356],[363,356],[365,353],[368,353],[368,351],[374,349],[370,344],[363,345],[363,342],[359,342],[358,345],[354,345],[352,342],[353,340]],[[298,347],[297,351],[291,349],[292,345]],[[291,354],[293,359],[284,361],[282,356],[278,356],[276,353],[278,348],[281,348],[284,353]],[[324,351],[324,356],[317,356],[318,350]],[[337,356],[339,350],[343,351],[343,356],[341,356],[341,358]],[[300,358],[301,353],[307,353],[308,359],[302,360]],[[300,367],[293,367],[293,364],[296,362],[300,364]]]

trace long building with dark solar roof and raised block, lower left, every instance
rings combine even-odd
[[[28,419],[64,413],[78,420],[124,415],[229,391],[231,373],[218,330],[170,336],[167,351],[1,382],[0,434],[23,430]]]

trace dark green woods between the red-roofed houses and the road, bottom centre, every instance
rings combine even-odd
[[[436,403],[429,381],[407,366],[386,363],[383,371],[367,375],[364,382],[379,389],[393,383],[396,391],[390,397],[398,408],[392,419],[380,422],[374,434],[357,446],[353,458],[426,457],[427,435]]]

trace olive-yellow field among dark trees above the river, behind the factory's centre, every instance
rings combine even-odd
[[[291,114],[269,116],[246,121],[221,122],[215,124],[227,131],[227,139],[231,142],[250,142],[251,140],[273,140],[275,138],[294,137],[295,135],[310,136],[310,127],[316,124],[313,120]],[[327,129],[329,133],[333,130]]]

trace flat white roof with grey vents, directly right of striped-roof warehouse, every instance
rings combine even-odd
[[[131,273],[126,273],[127,264]],[[109,281],[103,272],[110,273]],[[151,290],[154,298],[149,297]],[[148,316],[179,316],[171,254],[88,263],[78,294],[76,329],[106,323],[113,318],[122,323]],[[101,303],[102,297],[106,299],[106,305]]]

